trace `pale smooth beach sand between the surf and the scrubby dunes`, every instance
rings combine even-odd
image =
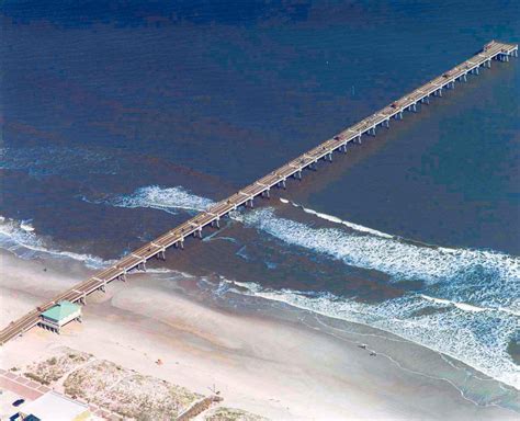
[[[25,261],[2,252],[0,325],[88,275],[78,262]],[[518,413],[477,406],[437,378],[464,369],[438,353],[354,325],[350,333],[334,323],[321,329],[319,318],[302,311],[282,317],[262,306],[224,309],[197,297],[195,288],[186,294],[195,281],[135,274],[113,282],[105,294],[88,297],[82,323],[59,335],[34,328],[3,346],[0,366],[22,367],[66,345],[201,394],[214,385],[225,406],[271,419],[518,420]]]

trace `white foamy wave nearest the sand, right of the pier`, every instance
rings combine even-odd
[[[441,352],[487,376],[520,389],[520,371],[507,352],[515,338],[518,317],[474,310],[448,300],[408,294],[381,304],[364,304],[330,293],[309,294],[292,289],[267,289],[255,283],[228,282],[236,294],[287,304],[350,322],[382,329]],[[239,288],[237,288],[238,286]],[[221,287],[221,289],[223,289]],[[431,311],[431,307],[437,311]],[[442,311],[450,306],[448,311]],[[429,311],[425,311],[429,309]]]

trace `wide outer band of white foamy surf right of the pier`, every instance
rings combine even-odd
[[[486,250],[422,247],[344,229],[315,228],[279,217],[272,208],[244,213],[240,220],[286,244],[348,265],[384,272],[391,282],[442,285],[446,297],[462,303],[495,308],[519,304],[520,259],[517,257]]]

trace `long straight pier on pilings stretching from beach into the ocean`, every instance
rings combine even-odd
[[[431,96],[442,96],[446,88],[454,88],[455,82],[466,81],[467,76],[478,75],[483,67],[490,67],[491,60],[509,61],[509,57],[518,57],[518,45],[504,44],[491,41],[486,44],[481,53],[464,62],[448,70],[443,75],[430,80],[415,91],[398,99],[392,104],[362,120],[351,127],[346,128],[332,138],[324,141],[314,149],[306,151],[296,159],[287,162],[252,184],[244,187],[230,197],[208,207],[195,217],[186,220],[177,228],[163,234],[154,241],[143,246],[121,259],[114,265],[95,273],[92,277],[57,295],[52,300],[42,304],[36,309],[26,314],[16,321],[12,321],[0,332],[0,345],[22,334],[36,326],[41,314],[59,301],[86,303],[86,298],[94,291],[105,291],[106,284],[114,280],[126,281],[126,274],[132,270],[146,270],[149,259],[166,258],[166,250],[170,247],[184,248],[184,240],[189,236],[201,237],[204,227],[219,226],[221,218],[236,210],[239,206],[253,205],[255,197],[269,197],[272,187],[285,189],[289,178],[302,179],[304,169],[312,169],[320,160],[332,160],[334,152],[347,152],[349,144],[361,144],[363,135],[375,136],[380,126],[389,126],[391,118],[400,120],[405,111],[417,111],[419,103],[429,103]]]

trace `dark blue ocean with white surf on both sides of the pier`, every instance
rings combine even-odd
[[[518,43],[519,15],[516,1],[3,2],[2,243],[102,265],[488,41]],[[518,387],[519,87],[517,59],[494,62],[305,173],[281,193],[301,206],[276,196],[169,266]]]

